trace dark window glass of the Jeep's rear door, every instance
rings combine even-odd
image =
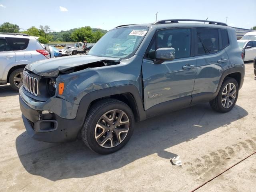
[[[220,50],[218,29],[198,28],[196,31],[198,55],[214,53]]]

